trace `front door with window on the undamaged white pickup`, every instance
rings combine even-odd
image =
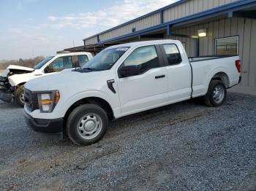
[[[118,94],[122,115],[141,112],[167,102],[167,71],[158,46],[135,49],[119,66],[135,65],[139,74],[118,77]]]

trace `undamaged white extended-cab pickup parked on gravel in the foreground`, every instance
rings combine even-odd
[[[226,89],[240,82],[240,69],[238,56],[187,58],[176,40],[118,44],[82,69],[27,82],[24,115],[36,131],[66,132],[75,144],[93,144],[109,120],[129,114],[198,96],[221,106]]]

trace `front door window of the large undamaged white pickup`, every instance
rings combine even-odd
[[[137,66],[139,74],[159,67],[156,47],[139,47],[124,61],[124,66]]]

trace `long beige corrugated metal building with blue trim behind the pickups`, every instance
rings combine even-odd
[[[67,50],[97,52],[110,44],[149,39],[178,39],[189,57],[240,55],[242,81],[235,91],[256,94],[256,0],[177,1]]]

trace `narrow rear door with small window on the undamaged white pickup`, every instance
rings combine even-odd
[[[174,43],[160,47],[167,69],[168,101],[173,103],[190,98],[192,72],[189,61],[182,58],[182,52]]]

